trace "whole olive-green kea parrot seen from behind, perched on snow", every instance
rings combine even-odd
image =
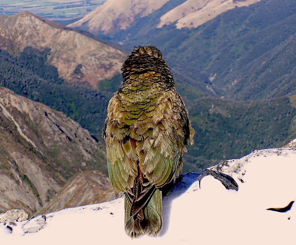
[[[109,179],[124,193],[126,233],[158,235],[162,190],[182,172],[195,132],[159,49],[135,47],[121,70],[103,129]]]

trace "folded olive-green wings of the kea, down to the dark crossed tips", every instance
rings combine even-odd
[[[135,106],[123,105],[113,97],[103,133],[108,171],[113,188],[125,192],[133,216],[156,188],[170,183],[182,171],[181,156],[188,142],[193,142],[194,133],[190,132],[193,129],[183,100],[175,91],[168,92],[157,104],[143,107],[144,112],[139,112],[142,124],[133,127],[129,125],[137,120],[132,109]],[[134,110],[138,112],[139,108]],[[118,123],[121,120],[124,123]]]

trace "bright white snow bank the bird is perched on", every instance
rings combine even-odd
[[[164,227],[158,237],[131,240],[124,231],[124,200],[46,214],[36,233],[12,233],[0,224],[2,244],[294,244],[296,205],[286,213],[268,208],[296,201],[296,149],[255,151],[211,168],[232,175],[239,189],[219,180],[186,174],[163,200]],[[241,179],[241,181],[239,180]],[[243,182],[243,183],[242,183]],[[290,218],[290,219],[288,219]]]

